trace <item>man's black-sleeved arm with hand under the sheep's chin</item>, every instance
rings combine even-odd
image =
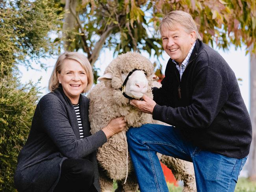
[[[153,114],[155,120],[173,126],[206,128],[213,122],[227,99],[228,93],[220,74],[206,66],[195,78],[191,105],[177,108],[154,105],[150,98],[143,101],[132,100],[130,103],[145,113]]]

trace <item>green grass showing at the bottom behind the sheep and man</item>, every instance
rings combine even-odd
[[[167,183],[169,192],[182,192],[182,186],[174,186],[172,183]],[[114,183],[114,190],[117,184]],[[235,192],[256,192],[256,182],[249,181],[245,177],[240,177],[237,181]]]

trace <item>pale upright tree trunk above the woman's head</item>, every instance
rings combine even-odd
[[[64,41],[64,49],[69,50],[70,41],[68,39],[73,39],[74,37],[70,36],[69,31],[71,31],[76,24],[76,18],[71,14],[70,7],[72,10],[76,10],[77,0],[65,0],[65,15],[64,15],[64,22],[62,27],[63,38]],[[74,35],[73,35],[74,36]]]

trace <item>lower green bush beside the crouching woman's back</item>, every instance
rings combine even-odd
[[[0,191],[15,190],[17,156],[28,137],[38,94],[37,85],[20,85],[11,76],[0,78]]]

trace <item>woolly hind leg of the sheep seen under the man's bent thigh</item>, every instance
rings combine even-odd
[[[184,182],[182,192],[197,191],[193,163],[169,157],[167,155],[162,155],[161,162],[172,170],[176,180],[182,180]]]

